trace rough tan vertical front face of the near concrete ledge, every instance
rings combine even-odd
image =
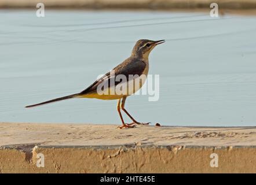
[[[31,149],[31,151],[28,151]],[[45,167],[36,166],[36,154]],[[218,155],[218,167],[210,155]],[[1,173],[255,173],[256,147],[8,146],[0,149]]]

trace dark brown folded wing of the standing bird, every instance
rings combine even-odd
[[[120,82],[116,82],[115,77],[117,75],[125,75],[126,80],[129,80],[129,75],[138,75],[141,76],[146,68],[146,64],[144,61],[141,60],[125,60],[118,66],[116,66],[111,72],[106,73],[103,77],[96,80],[92,85],[87,87],[85,90],[79,93],[79,95],[87,94],[89,92],[95,92],[97,91],[97,87],[101,83],[107,83],[108,87],[111,87],[113,85],[117,85]],[[114,80],[115,83],[110,83],[111,80]]]

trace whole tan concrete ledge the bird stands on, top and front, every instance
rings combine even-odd
[[[0,123],[0,173],[256,173],[256,127],[116,126]]]

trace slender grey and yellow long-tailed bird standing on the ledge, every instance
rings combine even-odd
[[[165,40],[154,41],[148,39],[140,39],[133,47],[130,57],[117,65],[111,71],[105,73],[104,76],[97,79],[85,90],[76,94],[67,95],[65,97],[51,99],[49,101],[37,103],[34,105],[28,105],[25,106],[25,108],[32,108],[35,106],[45,105],[47,103],[71,98],[97,98],[104,100],[117,99],[117,110],[122,121],[122,126],[118,128],[134,128],[136,125],[149,124],[136,121],[125,109],[125,101],[127,97],[134,94],[134,92],[138,91],[143,86],[148,76],[149,53],[151,53],[151,51],[157,45],[164,42]],[[130,119],[133,121],[132,123],[125,123],[121,110],[123,110],[123,112],[125,112],[127,116],[130,117]]]

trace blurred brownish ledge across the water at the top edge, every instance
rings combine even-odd
[[[254,0],[0,0],[0,8],[35,8],[36,3],[45,3],[46,8],[86,9],[209,9],[217,2],[221,9],[255,9]]]

